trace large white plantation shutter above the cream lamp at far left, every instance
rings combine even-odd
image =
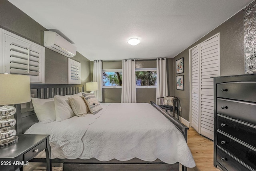
[[[2,73],[30,76],[31,83],[44,83],[44,47],[1,29]]]

